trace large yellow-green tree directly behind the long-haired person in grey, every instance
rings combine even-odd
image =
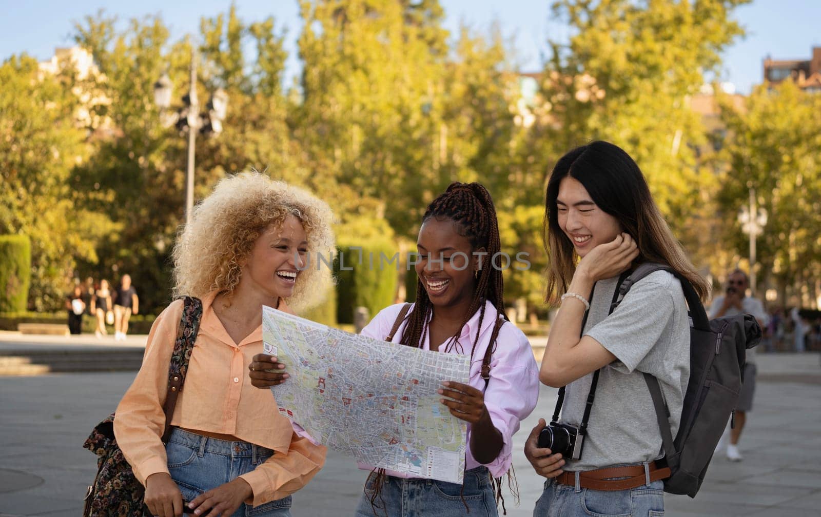
[[[527,152],[548,171],[589,140],[620,145],[638,162],[677,236],[696,242],[691,218],[715,183],[696,157],[704,127],[689,99],[743,33],[732,11],[747,1],[553,2],[571,37],[551,42]]]

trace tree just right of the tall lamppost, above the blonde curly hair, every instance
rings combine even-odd
[[[296,185],[321,184],[322,178],[308,173],[303,153],[291,138],[291,107],[282,92],[287,53],[284,33],[273,18],[246,23],[232,5],[227,16],[203,18],[200,28],[204,85],[209,91],[225,89],[229,104],[222,134],[201,139],[198,194],[208,194],[225,174],[250,167]],[[250,56],[243,50],[249,47],[254,48]]]

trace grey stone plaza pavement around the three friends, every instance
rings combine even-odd
[[[745,460],[717,457],[695,500],[667,496],[666,515],[821,515],[819,355],[759,355],[764,379],[741,439]],[[768,373],[777,374],[766,380]],[[794,376],[794,377],[791,377]],[[78,517],[95,457],[81,447],[108,415],[134,373],[0,377],[0,517]],[[790,382],[784,382],[785,380]],[[543,478],[521,453],[539,416],[549,417],[556,390],[543,387],[534,414],[514,437],[521,504],[507,495],[507,515],[532,514]],[[294,496],[294,517],[352,515],[366,473],[331,453],[325,468]],[[506,492],[507,493],[507,492]]]

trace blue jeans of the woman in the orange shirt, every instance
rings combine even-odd
[[[274,452],[248,442],[226,442],[174,428],[168,445],[168,471],[191,501],[222,483],[254,470]],[[231,517],[291,517],[291,496],[251,507],[243,503]]]

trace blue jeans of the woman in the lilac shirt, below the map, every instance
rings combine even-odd
[[[373,482],[369,480],[365,484],[365,493],[360,496],[356,517],[498,516],[493,483],[486,467],[467,470],[463,485],[435,479],[388,476],[382,492],[374,501],[375,512],[370,504],[374,491]]]

